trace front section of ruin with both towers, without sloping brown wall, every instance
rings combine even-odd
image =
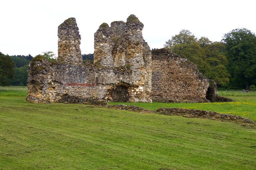
[[[95,61],[91,64],[82,63],[75,19],[62,23],[58,28],[58,60],[38,55],[29,64],[27,100],[151,102],[151,53],[142,38],[143,24],[131,15],[126,23],[111,25],[102,24],[95,33]],[[115,33],[119,25],[124,29]]]

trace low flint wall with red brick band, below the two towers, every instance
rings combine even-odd
[[[129,96],[130,89],[131,92],[142,93],[143,87],[129,87],[132,82],[128,81],[130,70],[126,68],[107,69],[90,64],[54,63],[38,56],[30,63],[29,72],[27,100],[32,103],[72,103],[68,101],[70,97],[81,101],[144,100],[139,95]],[[118,91],[123,94],[117,94]]]

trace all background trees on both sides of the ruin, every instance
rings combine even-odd
[[[181,30],[164,47],[195,63],[218,87],[256,89],[256,35],[246,28],[224,34],[220,42],[206,37],[198,39],[189,30]],[[56,59],[52,51],[43,52],[43,56],[48,60]],[[31,55],[9,56],[0,52],[0,85],[26,85],[26,69],[32,58]],[[93,60],[94,55],[83,54],[82,58]]]

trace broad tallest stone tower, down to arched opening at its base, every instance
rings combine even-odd
[[[130,70],[128,76],[114,80],[110,101],[151,102],[151,51],[142,37],[143,26],[130,15],[126,22],[115,21],[110,27],[101,24],[94,34],[94,64]],[[119,93],[127,99],[120,99]]]

